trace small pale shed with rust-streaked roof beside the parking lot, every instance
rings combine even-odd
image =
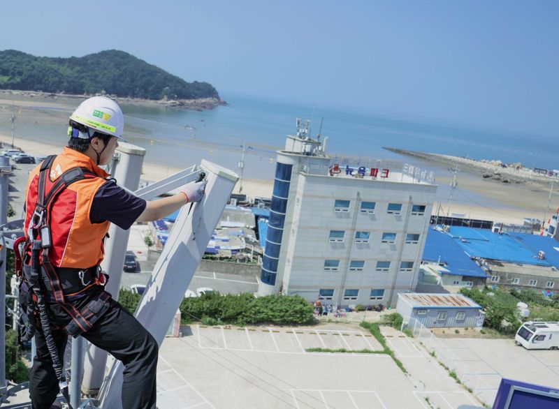
[[[481,328],[484,325],[481,306],[461,294],[400,293],[396,312],[411,327],[415,322],[428,328]]]

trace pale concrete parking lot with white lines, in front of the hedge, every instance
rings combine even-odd
[[[388,355],[306,351],[382,350],[356,325],[192,325],[183,327],[182,335],[165,339],[159,352],[161,409],[479,407],[439,364],[400,336],[392,336],[390,343],[402,354],[421,355],[421,371],[437,377],[433,388],[422,386],[413,373],[402,373]]]

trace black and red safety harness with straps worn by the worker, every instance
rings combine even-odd
[[[16,273],[22,276],[21,339],[31,340],[36,327],[41,327],[52,358],[52,366],[59,380],[59,387],[68,399],[68,383],[52,337],[53,324],[48,317],[47,304],[55,302],[71,317],[64,330],[75,338],[87,332],[107,311],[110,294],[105,291],[94,292],[93,299],[78,310],[71,301],[82,297],[85,290],[94,285],[105,285],[108,276],[101,272],[99,266],[87,269],[57,268],[50,262],[48,255],[51,246],[50,213],[53,203],[59,194],[75,181],[98,177],[87,168],[76,167],[66,170],[52,182],[48,174],[55,158],[55,155],[48,156],[41,165],[38,174],[37,202],[29,221],[27,237],[17,239],[13,248]]]

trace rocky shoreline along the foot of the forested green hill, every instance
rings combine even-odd
[[[99,94],[97,94],[99,95]],[[28,97],[28,98],[48,98],[55,102],[58,98],[73,98],[73,99],[84,99],[89,98],[93,95],[73,95],[73,94],[54,94],[42,91],[20,91],[15,89],[0,89],[0,98],[10,99],[11,96],[15,97]],[[143,98],[122,98],[115,95],[106,94],[109,98],[114,99],[121,103],[130,103],[133,105],[144,105],[144,106],[165,106],[173,107],[184,110],[196,110],[205,111],[213,110],[219,105],[228,105],[228,103],[221,98],[198,98],[198,99],[179,99],[179,100],[167,100],[162,99],[159,101],[143,99]]]

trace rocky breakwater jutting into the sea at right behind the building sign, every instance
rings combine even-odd
[[[424,161],[440,163],[444,165],[458,166],[459,170],[465,170],[475,174],[481,174],[484,179],[493,179],[504,184],[511,183],[537,183],[549,186],[555,177],[537,174],[532,168],[525,168],[521,163],[502,163],[502,161],[476,161],[460,156],[428,154],[420,151],[407,151],[405,149],[383,147],[395,154],[412,156]]]

